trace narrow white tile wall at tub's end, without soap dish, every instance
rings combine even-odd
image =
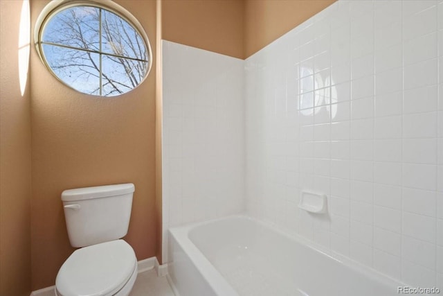
[[[169,227],[244,211],[244,61],[164,41],[163,262]]]

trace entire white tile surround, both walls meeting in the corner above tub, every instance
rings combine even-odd
[[[163,233],[246,195],[253,216],[443,288],[442,19],[440,0],[340,0],[246,62],[163,41]],[[329,214],[298,209],[303,189]]]

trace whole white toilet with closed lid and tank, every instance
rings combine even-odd
[[[55,279],[57,296],[127,296],[137,277],[127,234],[134,184],[115,184],[62,193],[66,228],[75,250]]]

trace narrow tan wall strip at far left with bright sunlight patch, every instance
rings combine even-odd
[[[28,296],[31,281],[30,92],[27,85],[21,96],[17,67],[21,8],[22,1],[0,1],[1,296]]]

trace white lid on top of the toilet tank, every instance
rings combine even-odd
[[[132,183],[68,189],[62,192],[62,201],[70,202],[74,200],[105,198],[133,193],[134,190],[135,186]]]

